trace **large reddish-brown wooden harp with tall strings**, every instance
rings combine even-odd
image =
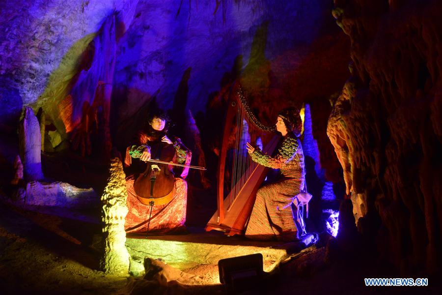
[[[217,211],[206,231],[228,236],[243,234],[255,202],[256,191],[268,168],[251,161],[246,142],[272,154],[280,139],[275,126],[265,126],[253,115],[239,83],[229,95],[218,162]]]

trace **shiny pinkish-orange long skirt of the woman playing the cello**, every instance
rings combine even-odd
[[[127,207],[124,228],[126,233],[145,233],[149,223],[151,207],[142,204],[134,190],[134,177],[126,178]],[[165,205],[152,207],[149,233],[173,234],[185,230],[187,207],[187,182],[181,178],[175,178],[173,187],[173,199]]]

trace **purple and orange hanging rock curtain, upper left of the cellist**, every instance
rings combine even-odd
[[[115,14],[106,18],[88,46],[90,65],[79,73],[70,94],[61,102],[65,110],[60,114],[64,128],[70,133],[73,149],[80,149],[83,156],[86,152],[91,154],[93,141],[97,142],[96,149],[100,150],[105,159],[111,153],[109,114],[115,66],[116,22]],[[98,133],[97,138],[92,138],[93,133]]]

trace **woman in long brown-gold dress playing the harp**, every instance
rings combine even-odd
[[[247,143],[251,159],[279,169],[280,178],[258,189],[245,236],[254,240],[294,240],[298,238],[292,202],[304,187],[304,154],[299,111],[287,108],[278,114],[276,130],[283,136],[275,156],[263,154]]]

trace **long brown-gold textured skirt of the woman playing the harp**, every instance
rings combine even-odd
[[[246,237],[253,240],[297,239],[297,212],[292,202],[300,192],[300,184],[299,179],[285,178],[258,189]]]

